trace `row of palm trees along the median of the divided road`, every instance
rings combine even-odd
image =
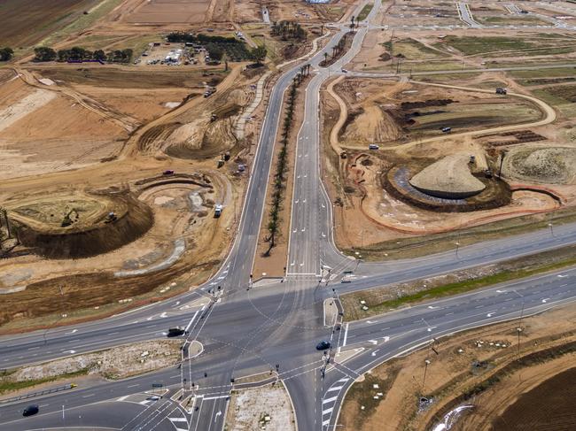
[[[268,231],[269,237],[266,241],[269,242],[269,249],[264,253],[264,256],[269,256],[270,251],[276,245],[276,235],[280,228],[280,209],[282,207],[282,199],[284,194],[284,187],[286,184],[286,171],[288,169],[288,138],[292,130],[292,120],[294,117],[294,103],[296,102],[297,89],[305,74],[310,73],[310,65],[303,65],[300,67],[300,73],[296,75],[290,93],[288,94],[288,103],[284,113],[284,125],[282,129],[282,138],[280,140],[280,152],[278,153],[278,160],[276,162],[276,174],[274,176],[274,191],[272,192],[272,205],[269,213]]]

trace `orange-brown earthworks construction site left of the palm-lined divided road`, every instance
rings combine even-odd
[[[234,3],[213,3],[100,2],[84,15],[94,21],[63,22],[30,42],[167,58],[183,46],[165,42],[169,32],[198,24],[210,41],[206,23],[222,20],[216,34],[234,35]],[[24,31],[16,24],[13,37]],[[236,45],[251,48],[241,38]],[[0,68],[4,333],[193,289],[230,249],[268,66],[247,58],[185,69],[133,63],[39,62],[23,46]]]

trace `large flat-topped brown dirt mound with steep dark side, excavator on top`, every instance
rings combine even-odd
[[[37,201],[9,215],[20,242],[46,258],[88,258],[115,250],[153,224],[152,210],[128,193]]]

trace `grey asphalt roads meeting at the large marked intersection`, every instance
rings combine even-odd
[[[377,1],[369,21],[379,7]],[[284,73],[272,89],[237,239],[211,281],[169,301],[109,319],[0,338],[3,368],[164,337],[167,327],[174,325],[188,327],[187,339],[202,342],[204,352],[181,366],[156,373],[80,385],[34,398],[41,407],[35,417],[21,415],[31,401],[0,404],[0,430],[63,426],[221,430],[232,380],[253,373],[273,376],[276,372],[292,396],[299,430],[333,429],[346,389],[372,366],[441,335],[573,301],[574,273],[564,270],[352,322],[341,329],[324,325],[324,299],[337,298],[342,292],[449,273],[576,242],[576,225],[569,224],[554,227],[553,232],[535,231],[424,258],[379,264],[340,254],[331,241],[331,203],[319,175],[318,92],[323,81],[332,73],[341,73],[342,65],[360,50],[368,27],[357,30],[344,58],[329,68],[320,67],[324,50],[331,51],[347,30],[344,25],[340,27],[327,46],[309,60],[315,76],[307,85],[305,120],[298,135],[285,280],[253,286],[250,271],[282,97],[300,66]],[[354,281],[339,282],[345,270],[354,270]],[[323,339],[332,343],[326,354],[315,350],[315,344]],[[335,351],[348,349],[362,350],[344,364],[330,363]],[[162,398],[143,395],[152,385],[160,384],[169,390]],[[185,389],[184,396],[193,396],[186,409],[177,403],[180,389]]]

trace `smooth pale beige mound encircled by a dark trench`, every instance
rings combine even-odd
[[[444,198],[463,198],[479,194],[486,186],[471,174],[466,154],[454,154],[425,167],[410,179],[423,193]]]

